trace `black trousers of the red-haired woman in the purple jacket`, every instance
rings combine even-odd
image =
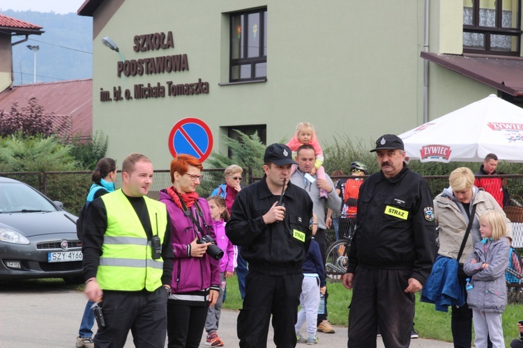
[[[167,337],[169,348],[197,348],[204,333],[207,306],[186,306],[167,301]],[[163,347],[163,346],[162,346]]]

